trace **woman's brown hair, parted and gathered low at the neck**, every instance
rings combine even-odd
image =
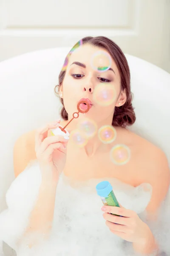
[[[132,93],[130,91],[130,70],[127,64],[127,59],[123,54],[122,50],[111,39],[104,36],[97,36],[97,37],[89,36],[89,37],[82,38],[80,41],[82,44],[91,44],[93,46],[103,48],[110,53],[120,73],[121,89],[126,90],[126,96],[127,96],[127,100],[124,105],[120,107],[115,107],[112,125],[122,126],[122,127],[126,127],[127,125],[133,125],[133,123],[136,120],[136,116],[135,116],[134,108],[132,106]],[[79,42],[76,45],[79,45]],[[75,49],[75,46],[72,49]],[[64,66],[66,66],[66,64],[68,63],[69,55],[71,55],[71,52],[73,51],[72,49],[68,53],[67,57],[65,58]],[[59,95],[59,87],[61,86],[64,78],[65,78],[65,70],[62,69],[61,72],[59,73],[59,84],[56,85],[54,88],[54,91],[57,94],[57,96]],[[65,110],[63,99],[60,98],[60,101],[63,105],[60,115],[62,119],[68,120],[68,113]]]

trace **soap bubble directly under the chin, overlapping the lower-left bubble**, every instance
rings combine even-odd
[[[79,131],[81,131],[85,137],[92,138],[97,132],[97,125],[96,123],[88,118],[80,121],[77,125]]]

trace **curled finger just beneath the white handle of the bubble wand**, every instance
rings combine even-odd
[[[47,137],[42,141],[37,153],[42,154],[48,148],[48,146],[50,144],[57,143],[57,142],[68,143],[68,140],[66,140],[62,135],[55,135],[55,136]]]

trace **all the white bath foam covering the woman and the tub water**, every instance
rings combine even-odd
[[[135,210],[144,219],[144,209],[151,197],[151,188],[141,184],[133,188],[127,184],[108,179],[113,186],[117,200],[123,207]],[[88,183],[69,185],[69,179],[60,177],[54,221],[51,236],[39,244],[28,247],[28,241],[17,247],[17,241],[22,238],[28,224],[28,217],[33,209],[41,183],[40,169],[37,164],[28,167],[11,184],[6,194],[8,209],[0,214],[0,239],[6,241],[17,251],[17,256],[133,256],[132,243],[124,242],[110,232],[102,217],[102,201],[96,194],[96,184],[100,180],[90,180]],[[167,206],[167,201],[164,203]],[[168,215],[170,206],[164,207],[164,218],[153,223],[153,233],[159,239],[159,244],[167,255],[170,233]],[[148,223],[150,226],[151,224]],[[161,225],[161,226],[160,226]],[[151,225],[152,226],[152,225]],[[28,239],[28,238],[27,238]],[[137,255],[137,254],[136,254]]]

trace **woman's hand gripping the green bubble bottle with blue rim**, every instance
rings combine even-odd
[[[136,212],[125,209],[124,207],[102,206],[104,219],[110,231],[122,239],[139,244],[145,244],[146,239],[150,236],[150,229],[144,223]],[[115,216],[109,213],[113,213]]]

